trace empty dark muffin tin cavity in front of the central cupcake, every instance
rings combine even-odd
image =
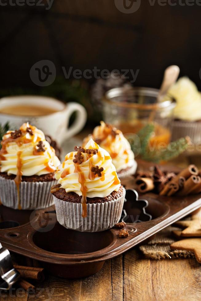
[[[34,244],[48,252],[59,254],[85,254],[108,247],[113,241],[110,231],[78,232],[66,229],[58,222],[49,232],[35,232]]]

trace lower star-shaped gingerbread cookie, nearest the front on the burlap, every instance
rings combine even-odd
[[[187,238],[170,245],[171,250],[186,250],[194,252],[195,257],[201,263],[201,238]]]

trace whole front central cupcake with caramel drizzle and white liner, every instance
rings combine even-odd
[[[110,155],[92,139],[65,156],[55,178],[51,192],[57,220],[65,228],[98,232],[120,220],[125,189]]]

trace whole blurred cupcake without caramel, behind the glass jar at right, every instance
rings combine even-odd
[[[201,94],[188,78],[181,77],[168,91],[176,100],[172,140],[189,136],[194,144],[200,143]]]

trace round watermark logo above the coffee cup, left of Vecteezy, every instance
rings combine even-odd
[[[42,60],[35,63],[30,69],[30,79],[40,87],[51,85],[56,78],[56,68],[52,61]]]

